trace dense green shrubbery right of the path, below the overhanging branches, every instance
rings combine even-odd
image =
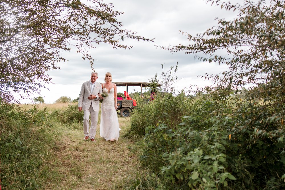
[[[148,177],[138,178],[164,189],[285,188],[285,144],[278,132],[274,136],[264,128],[282,130],[278,118],[263,120],[274,109],[264,110],[257,102],[238,97],[231,91],[208,90],[175,102],[180,105],[161,97],[156,102],[165,102],[163,106],[154,102],[137,110],[157,114],[132,118],[132,127],[142,124],[145,129],[144,139],[134,148],[142,166],[150,169]],[[176,109],[183,105],[184,109]],[[171,114],[180,119],[175,125],[168,120]],[[149,183],[136,186],[143,189],[142,184]]]

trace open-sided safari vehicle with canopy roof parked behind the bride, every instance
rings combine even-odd
[[[140,86],[141,87],[141,95],[143,94],[143,87],[145,89],[149,89],[150,83],[148,82],[114,82],[117,87],[118,86],[125,86],[126,91],[125,91],[125,96],[118,95],[117,99],[117,106],[118,109],[120,110],[120,115],[122,117],[130,117],[132,114],[133,109],[136,107],[136,101],[134,101],[133,97],[129,97],[128,95],[128,87],[133,87],[133,86]]]

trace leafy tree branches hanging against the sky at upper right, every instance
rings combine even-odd
[[[208,78],[224,85],[240,87],[247,84],[259,85],[271,80],[279,83],[284,79],[284,1],[260,0],[258,3],[244,1],[243,5],[232,5],[219,0],[207,3],[228,11],[238,12],[233,21],[217,19],[218,26],[188,37],[190,44],[165,48],[198,54],[198,60],[227,64],[229,70]],[[219,55],[226,51],[226,56]],[[224,54],[224,53],[223,53]],[[269,71],[269,72],[268,72]]]

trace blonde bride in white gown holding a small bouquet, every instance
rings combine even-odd
[[[120,136],[119,121],[116,109],[117,106],[117,86],[112,81],[111,73],[105,74],[106,82],[102,84],[103,92],[108,96],[101,104],[100,136],[111,142],[118,140]]]

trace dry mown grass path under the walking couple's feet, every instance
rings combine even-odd
[[[83,140],[81,124],[54,126],[55,159],[45,163],[49,175],[45,189],[124,189],[135,179],[138,160],[128,149],[133,142],[121,138],[130,119],[119,117],[119,125],[119,140],[106,142],[98,124],[95,143]]]

